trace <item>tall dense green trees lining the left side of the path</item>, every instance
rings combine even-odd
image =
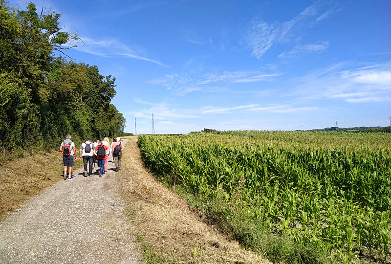
[[[126,120],[110,103],[115,78],[56,57],[77,46],[77,32],[61,31],[52,10],[26,9],[0,0],[0,150],[52,148],[66,134],[121,136]]]

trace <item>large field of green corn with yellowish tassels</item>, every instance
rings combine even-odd
[[[240,199],[256,222],[342,263],[390,263],[390,143],[390,134],[345,132],[138,138],[155,173],[206,198]]]

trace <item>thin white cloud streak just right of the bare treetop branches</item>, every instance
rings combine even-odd
[[[82,38],[85,41],[84,45],[79,45],[79,51],[90,53],[101,57],[123,56],[136,60],[151,62],[160,66],[167,66],[157,60],[149,58],[146,48],[141,46],[130,47],[116,40],[94,40],[90,38]]]

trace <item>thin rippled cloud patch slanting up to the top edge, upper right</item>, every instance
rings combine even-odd
[[[246,37],[248,44],[253,49],[251,54],[256,58],[261,59],[261,57],[273,46],[273,44],[290,41],[288,36],[292,29],[300,27],[301,31],[304,31],[304,29],[311,25],[311,23],[313,24],[315,21],[324,20],[329,17],[333,12],[335,12],[333,9],[327,10],[319,16],[319,13],[324,8],[324,2],[316,1],[314,4],[305,8],[304,11],[302,11],[292,20],[287,22],[276,22],[269,24],[260,18],[254,18],[250,22],[250,30],[248,31]],[[314,18],[317,15],[318,17]],[[298,34],[298,31],[300,32],[300,30],[295,30],[296,34]],[[296,37],[297,36],[295,36],[295,38]],[[295,49],[297,51],[299,51],[300,49],[302,51],[309,51],[314,49],[319,50],[319,48],[322,47],[308,44],[303,46],[299,45]],[[294,54],[296,52],[295,49],[292,50],[291,54]]]

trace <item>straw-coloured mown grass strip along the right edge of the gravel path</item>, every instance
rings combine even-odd
[[[228,241],[186,201],[156,182],[140,160],[137,137],[128,138],[117,177],[147,263],[270,263]]]

